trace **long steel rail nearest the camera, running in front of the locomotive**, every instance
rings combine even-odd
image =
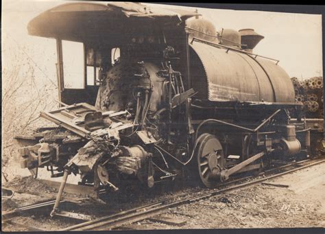
[[[304,161],[306,162],[306,161]],[[91,222],[84,222],[82,224],[77,224],[75,226],[70,226],[66,229],[62,229],[60,231],[100,231],[100,230],[108,230],[108,229],[115,229],[119,226],[123,226],[124,224],[130,224],[132,222],[137,222],[140,220],[145,220],[146,218],[150,218],[154,215],[158,215],[160,213],[165,213],[167,209],[171,209],[174,207],[178,207],[182,204],[188,204],[191,202],[195,202],[196,200],[202,200],[202,199],[206,199],[209,198],[211,196],[216,196],[218,194],[222,194],[228,191],[233,191],[236,189],[241,189],[244,187],[250,187],[252,185],[256,185],[258,183],[261,183],[265,180],[269,180],[271,178],[276,178],[278,176],[282,176],[285,174],[289,174],[292,172],[296,172],[300,169],[304,169],[306,167],[311,167],[313,165],[317,165],[320,163],[324,163],[325,159],[316,161],[314,163],[310,163],[308,165],[302,165],[301,167],[297,167],[294,169],[290,169],[286,172],[281,172],[279,174],[275,174],[272,176],[267,176],[265,178],[261,178],[261,179],[257,179],[257,180],[252,180],[248,183],[243,183],[243,184],[239,184],[239,185],[234,185],[232,187],[226,187],[224,189],[218,189],[218,190],[214,190],[214,191],[208,191],[204,194],[201,195],[197,195],[197,193],[195,193],[194,196],[191,196],[189,198],[183,198],[181,200],[177,200],[175,202],[171,202],[169,204],[163,204],[161,202],[162,205],[159,206],[159,204],[157,204],[157,206],[152,207],[151,209],[144,209],[143,211],[137,212],[137,213],[132,213],[132,212],[126,212],[125,215],[123,214],[117,214],[117,215],[111,215],[108,217],[104,217],[104,218],[99,218],[98,220],[92,220]],[[299,162],[297,162],[298,164]],[[291,163],[292,166],[293,164]],[[296,164],[294,164],[296,165]],[[274,168],[274,170],[276,170],[278,168]],[[283,167],[282,167],[283,169]],[[237,181],[238,182],[238,181]],[[134,210],[134,209],[133,209]],[[139,209],[138,209],[139,210]],[[117,218],[114,218],[117,217]]]

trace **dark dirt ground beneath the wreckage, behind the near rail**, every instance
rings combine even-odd
[[[49,198],[55,199],[57,189],[53,189],[43,184],[39,180],[32,179],[31,176],[16,176],[10,182],[5,183],[4,186],[13,188],[20,192],[29,192],[31,194],[19,194],[14,193],[11,199],[2,199],[2,212],[8,212],[14,210],[16,207],[25,206],[27,204],[34,204],[36,202],[44,202]],[[108,194],[103,200],[88,199],[86,202],[75,207],[71,205],[60,205],[60,208],[64,211],[72,211],[76,213],[82,213],[85,215],[93,215],[94,217],[101,217],[109,215],[111,213],[117,213],[126,209],[132,209],[132,207],[139,207],[144,204],[152,202],[170,199],[188,194],[191,192],[206,191],[199,187],[184,187],[180,183],[171,185],[157,185],[155,189],[141,189],[136,187],[135,190],[129,191],[128,189],[121,190],[117,193]],[[42,196],[36,196],[32,194],[42,194]],[[82,198],[75,194],[64,193],[66,198]],[[80,221],[71,222],[71,219],[64,219],[61,217],[54,217],[49,219],[49,213],[51,207],[47,211],[38,215],[25,215],[24,217],[13,218],[14,222],[21,224],[28,224],[29,226],[37,227],[38,229],[45,229],[47,231],[57,231],[64,227],[71,226]],[[27,231],[21,227],[16,226],[3,226],[3,231]]]

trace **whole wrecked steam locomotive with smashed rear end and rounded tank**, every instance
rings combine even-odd
[[[310,155],[289,76],[278,60],[253,54],[263,36],[217,32],[199,16],[66,3],[33,19],[29,34],[56,39],[60,108],[41,113],[58,127],[16,137],[22,167],[63,176],[60,199],[71,173],[97,191],[180,176],[215,187],[270,159]],[[82,66],[64,61],[77,56],[67,41],[82,45]],[[77,89],[65,84],[73,75]]]

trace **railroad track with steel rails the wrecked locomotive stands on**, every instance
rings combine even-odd
[[[282,165],[280,167],[274,167],[272,169],[268,169],[261,174],[268,175],[263,178],[258,178],[258,176],[248,176],[245,178],[234,179],[228,183],[224,183],[222,188],[220,189],[210,189],[208,191],[194,191],[188,194],[182,194],[178,196],[178,198],[168,198],[165,200],[160,200],[158,202],[153,202],[150,204],[143,205],[141,207],[135,207],[132,209],[128,209],[126,211],[121,211],[119,213],[115,213],[112,215],[107,215],[101,218],[97,218],[95,220],[89,220],[86,222],[82,222],[80,224],[75,224],[73,226],[68,226],[64,229],[60,229],[58,231],[104,231],[110,229],[117,229],[125,224],[131,224],[133,222],[139,222],[141,220],[145,220],[148,218],[152,218],[156,215],[160,215],[162,213],[166,213],[169,209],[178,207],[182,204],[189,204],[191,202],[195,202],[197,200],[203,200],[206,198],[210,198],[211,196],[216,196],[218,194],[223,194],[228,191],[233,191],[236,189],[241,189],[244,187],[249,187],[252,185],[256,185],[258,183],[262,183],[265,180],[269,180],[271,178],[276,178],[278,176],[282,176],[285,174],[289,174],[291,172],[296,172],[300,169],[304,169],[306,167],[311,167],[313,165],[317,165],[320,163],[324,163],[325,159],[315,159],[315,160],[304,160],[289,163],[287,165]],[[291,167],[295,167],[293,169],[288,169]],[[285,170],[288,169],[288,170]],[[284,171],[285,170],[285,171]],[[280,172],[279,172],[280,171]],[[276,173],[276,174],[274,174]],[[260,176],[261,176],[260,174]],[[248,179],[254,178],[254,180],[247,181]],[[31,204],[25,207],[19,207],[18,209],[10,212],[10,214],[3,216],[5,218],[3,220],[4,223],[10,224],[12,226],[25,227],[29,229],[29,231],[42,231],[41,229],[37,229],[36,227],[29,227],[25,224],[19,224],[12,220],[12,216],[22,214],[26,211],[34,211],[35,209],[43,209],[48,208],[53,205],[54,200],[49,200],[47,202],[41,202],[38,204]],[[65,202],[62,200],[62,202]],[[62,211],[65,212],[65,211]],[[67,217],[69,218],[69,217]],[[73,215],[70,217],[73,218]],[[37,229],[37,230],[36,230]]]

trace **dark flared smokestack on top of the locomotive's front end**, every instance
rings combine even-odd
[[[264,38],[264,36],[254,32],[251,28],[245,28],[238,31],[241,34],[241,49],[253,52],[254,47]]]

